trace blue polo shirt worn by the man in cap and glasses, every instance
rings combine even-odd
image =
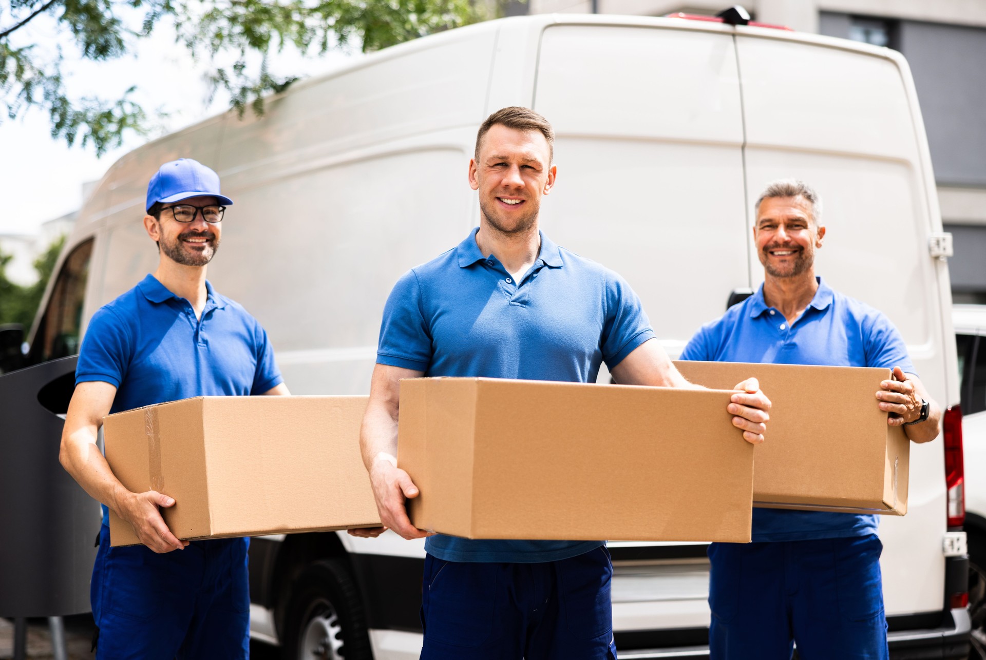
[[[194,396],[262,394],[282,383],[257,320],[208,282],[205,288],[199,319],[188,300],[151,275],[100,307],[79,351],[76,383],[115,385],[110,413]]]

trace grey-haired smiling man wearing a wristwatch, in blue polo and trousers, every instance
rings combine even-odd
[[[802,181],[767,186],[753,226],[763,286],[702,327],[681,359],[889,368],[874,405],[911,440],[932,440],[941,409],[900,333],[814,274],[820,207]],[[753,509],[753,543],[709,547],[711,657],[787,660],[797,643],[806,658],[886,658],[877,524],[876,515]]]

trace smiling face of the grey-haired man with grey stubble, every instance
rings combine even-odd
[[[767,197],[760,202],[753,227],[757,256],[775,278],[814,276],[814,251],[824,227],[816,227],[810,202],[802,196]]]

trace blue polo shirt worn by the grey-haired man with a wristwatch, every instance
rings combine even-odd
[[[767,306],[761,285],[756,294],[730,307],[722,318],[702,326],[684,347],[681,360],[899,366],[914,373],[904,340],[886,316],[832,291],[820,277],[817,282],[808,308],[791,324],[779,310]],[[873,405],[877,405],[876,398]],[[877,525],[876,515],[754,508],[752,540],[867,536],[877,532]]]

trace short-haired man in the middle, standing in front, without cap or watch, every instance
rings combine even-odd
[[[469,162],[479,227],[411,269],[387,299],[361,436],[385,527],[351,534],[376,536],[388,527],[405,539],[428,536],[407,518],[404,498],[418,490],[394,459],[400,378],[595,382],[605,361],[621,383],[692,386],[654,341],[626,282],[538,231],[541,197],[556,178],[553,140],[550,124],[528,108],[490,115]],[[759,442],[770,402],[752,378],[738,389],[729,405],[733,423]],[[437,535],[425,549],[424,660],[615,657],[612,566],[602,541]]]

